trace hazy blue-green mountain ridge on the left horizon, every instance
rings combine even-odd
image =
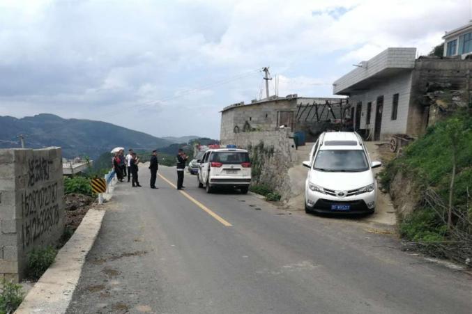
[[[172,144],[112,123],[63,119],[49,113],[21,119],[0,116],[0,125],[0,148],[20,148],[17,136],[24,134],[26,148],[60,146],[66,158],[87,155],[93,159],[116,146],[151,150]]]

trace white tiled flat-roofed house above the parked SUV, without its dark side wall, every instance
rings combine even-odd
[[[415,59],[416,48],[388,48],[334,82],[333,93],[349,96],[355,129],[375,140],[409,133]]]

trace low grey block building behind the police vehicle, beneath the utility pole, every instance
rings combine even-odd
[[[326,120],[342,118],[342,108],[347,102],[342,98],[318,98],[271,96],[264,100],[252,100],[231,104],[221,111],[220,141],[222,144],[236,143],[238,134],[247,132],[274,131],[280,127],[291,132],[316,133],[316,128]]]

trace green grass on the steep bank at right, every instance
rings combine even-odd
[[[472,217],[470,207],[472,194],[472,113],[461,112],[434,127],[429,127],[425,136],[420,137],[406,147],[404,155],[386,164],[379,174],[379,182],[384,189],[390,185],[398,173],[413,180],[418,191],[429,187],[434,189],[448,203],[448,194],[452,176],[451,125],[455,126],[457,136],[457,171],[453,189],[452,205],[466,217]],[[407,197],[407,196],[405,196]],[[470,227],[466,227],[470,228]],[[443,217],[432,208],[418,207],[409,217],[399,224],[399,233],[406,240],[413,242],[437,242],[447,240],[447,226]]]

